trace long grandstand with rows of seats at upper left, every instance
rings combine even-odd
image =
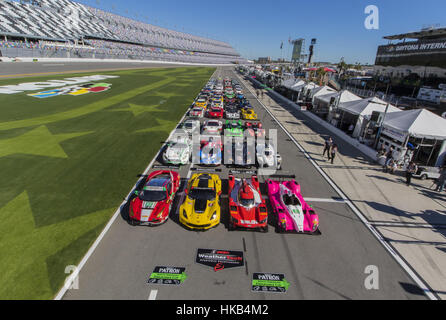
[[[8,57],[243,63],[231,45],[69,0],[0,0],[0,50]]]

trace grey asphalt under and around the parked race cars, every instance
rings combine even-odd
[[[228,68],[219,68],[216,76],[237,79]],[[122,217],[124,206],[122,216],[114,221],[80,271],[79,288],[68,290],[64,299],[425,299],[350,208],[336,201],[335,190],[250,91],[245,88],[244,93],[264,127],[278,130],[278,151],[283,157],[279,174],[294,174],[304,197],[314,199],[309,202],[319,214],[322,235],[276,233],[271,214],[268,233],[228,231],[225,195],[229,170],[222,166],[217,172],[223,181],[222,219],[217,228],[206,232],[183,228],[177,210],[182,193],[177,194],[168,222],[155,228],[129,225]],[[156,161],[156,165],[160,163]],[[194,173],[190,166],[181,167],[179,172],[183,181]],[[259,178],[260,182],[266,179]],[[245,266],[214,272],[195,263],[198,248],[243,251]],[[156,266],[185,267],[188,278],[180,286],[149,285],[148,277]],[[367,266],[379,270],[378,290],[365,287]],[[290,282],[288,292],[252,292],[254,272],[284,274]]]

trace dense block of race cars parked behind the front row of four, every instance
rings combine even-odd
[[[165,164],[184,165],[192,161],[219,166],[224,161],[227,166],[281,169],[277,148],[267,139],[266,130],[238,86],[226,83],[224,94],[216,83],[203,89],[189,111],[189,119],[180,125],[164,150]],[[200,120],[204,118],[207,120],[202,124]],[[199,139],[196,143],[192,141],[194,137]]]

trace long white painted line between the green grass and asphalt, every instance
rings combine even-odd
[[[215,74],[215,72],[214,72]],[[213,76],[213,75],[212,75]],[[184,121],[184,118],[186,118],[187,113],[189,111],[189,108],[186,110],[186,112],[184,113],[183,117],[181,118],[181,120],[178,123],[182,123]],[[169,141],[172,138],[173,133],[175,132],[176,127],[170,132],[169,137],[167,138],[166,141]],[[161,150],[163,150],[163,148],[166,146],[166,143],[164,143],[164,145],[159,149],[159,151],[157,152],[157,154],[155,155],[155,157],[153,157],[152,161],[150,162],[150,164],[147,166],[147,168],[144,170],[143,175],[146,175],[150,169],[152,168],[153,164],[155,163],[156,159],[159,157]],[[98,247],[99,243],[102,241],[102,239],[104,238],[105,234],[108,232],[108,230],[110,230],[111,226],[113,225],[113,223],[115,222],[116,218],[120,215],[121,213],[121,207],[128,201],[128,198],[130,197],[131,193],[133,192],[133,190],[136,188],[136,186],[139,184],[139,182],[144,179],[144,177],[141,177],[136,183],[135,185],[132,187],[132,189],[130,189],[129,193],[127,194],[127,196],[125,197],[125,200],[121,203],[121,205],[118,207],[118,209],[116,209],[114,215],[112,216],[112,218],[109,220],[109,222],[107,223],[107,225],[104,227],[104,229],[102,230],[101,234],[97,237],[97,239],[95,240],[95,242],[91,245],[90,249],[88,249],[87,253],[85,254],[85,256],[82,258],[81,262],[79,263],[79,265],[77,266],[77,270],[76,272],[73,272],[70,276],[68,276],[65,280],[64,286],[59,290],[59,292],[57,293],[57,295],[54,297],[54,300],[62,300],[62,298],[64,297],[64,295],[67,293],[68,288],[71,287],[71,284],[76,280],[76,278],[79,276],[79,273],[81,272],[82,268],[85,266],[85,264],[87,263],[88,259],[91,257],[91,255],[93,254],[93,252],[95,251],[95,249]],[[158,290],[157,290],[158,292]]]

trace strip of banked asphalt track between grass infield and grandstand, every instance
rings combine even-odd
[[[179,68],[187,65],[142,62],[0,62],[0,79],[60,73],[98,72],[143,68]],[[193,65],[191,65],[193,66]]]

